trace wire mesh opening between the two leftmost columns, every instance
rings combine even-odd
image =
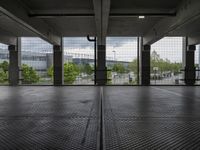
[[[53,46],[40,38],[21,39],[21,84],[53,84]]]

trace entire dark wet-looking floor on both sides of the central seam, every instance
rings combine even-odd
[[[102,92],[101,92],[102,91]],[[200,149],[200,87],[0,87],[0,149]]]

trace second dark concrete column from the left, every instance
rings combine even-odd
[[[53,46],[54,85],[64,83],[63,48],[61,45]]]

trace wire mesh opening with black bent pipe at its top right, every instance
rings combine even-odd
[[[64,84],[94,85],[94,43],[86,37],[63,38]]]

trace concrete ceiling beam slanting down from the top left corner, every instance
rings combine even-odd
[[[28,8],[20,1],[1,0],[0,12],[47,42],[60,45],[61,38],[59,34],[44,20],[30,18],[28,16]]]

